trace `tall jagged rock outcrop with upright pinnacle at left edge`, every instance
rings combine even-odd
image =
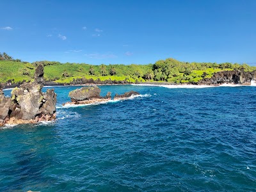
[[[38,65],[33,82],[14,88],[11,97],[5,97],[0,88],[0,125],[28,124],[56,118],[57,95],[53,89],[42,93],[44,67]]]

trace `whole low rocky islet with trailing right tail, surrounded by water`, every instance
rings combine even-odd
[[[70,105],[70,104],[94,104],[99,102],[106,102],[111,100],[111,92],[108,92],[106,96],[100,96],[100,88],[98,86],[84,86],[83,88],[79,88],[69,92],[68,96],[71,99],[71,102],[63,103],[62,105]],[[122,95],[118,95],[116,93],[113,100],[124,100],[129,99],[132,96],[140,95],[138,92],[126,92]]]

